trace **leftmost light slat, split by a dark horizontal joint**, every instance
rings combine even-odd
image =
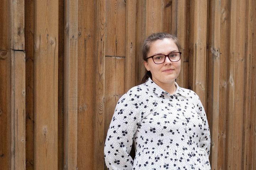
[[[11,2],[11,170],[26,168],[24,7]]]

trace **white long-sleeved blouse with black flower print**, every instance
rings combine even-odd
[[[210,169],[202,103],[192,90],[175,85],[170,95],[149,78],[119,99],[104,148],[109,170]]]

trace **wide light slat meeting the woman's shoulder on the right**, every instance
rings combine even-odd
[[[206,110],[207,1],[194,1],[193,87]]]

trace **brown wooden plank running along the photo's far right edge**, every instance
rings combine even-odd
[[[255,88],[253,88],[254,79],[252,77],[253,66],[255,67],[255,62],[253,62],[253,34],[254,34],[254,15],[255,10],[252,8],[253,1],[249,0],[246,4],[246,29],[247,29],[247,43],[248,46],[245,49],[245,97],[244,97],[244,127],[243,127],[243,147],[242,147],[242,167],[243,169],[253,169],[254,160],[253,152],[254,146],[254,117],[255,112],[253,112],[253,107],[255,105],[253,100],[253,94],[255,94]],[[255,73],[254,73],[255,74]],[[254,85],[255,86],[255,85]]]

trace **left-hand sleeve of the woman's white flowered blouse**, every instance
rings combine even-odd
[[[138,96],[136,96],[127,92],[116,105],[104,148],[108,170],[132,170],[133,168],[133,159],[129,153],[132,148],[133,136],[140,128],[141,120]]]

